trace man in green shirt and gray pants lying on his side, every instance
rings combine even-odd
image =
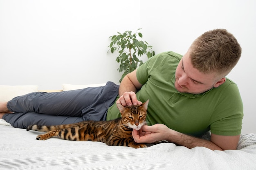
[[[32,93],[0,105],[0,112],[15,112],[2,113],[3,119],[12,125],[54,124],[60,119],[62,123],[68,123],[79,121],[81,110],[83,119],[90,110],[105,113],[97,109],[106,103],[107,114],[103,118],[102,115],[93,118],[94,114],[89,114],[88,119],[115,119],[120,113],[112,103],[119,91],[116,103],[124,106],[150,99],[147,120],[152,126],[133,130],[132,135],[138,143],[167,140],[188,148],[236,149],[242,127],[243,103],[236,84],[225,76],[234,68],[240,55],[241,48],[236,38],[224,29],[216,29],[197,38],[183,57],[166,52],[150,58],[126,75],[119,89],[115,85],[111,88],[107,83],[102,93],[97,92],[98,88],[54,94]],[[112,93],[108,93],[110,91]],[[88,109],[86,102],[81,103],[88,95],[96,96],[92,101],[98,101],[101,96],[110,97],[109,100],[99,100]],[[74,99],[72,102],[71,98]],[[105,100],[108,102],[102,102]],[[77,104],[79,102],[81,106]],[[72,114],[70,107],[73,108]],[[42,116],[42,113],[47,115]],[[209,130],[210,141],[198,138]]]

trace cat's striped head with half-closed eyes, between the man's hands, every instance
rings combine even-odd
[[[117,103],[117,108],[120,110],[123,122],[135,130],[139,130],[143,125],[146,125],[146,115],[149,99],[141,105],[122,106]]]

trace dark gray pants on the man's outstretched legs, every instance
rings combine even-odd
[[[89,87],[56,93],[36,92],[13,98],[7,108],[14,112],[2,119],[16,128],[31,124],[72,124],[85,120],[106,120],[108,108],[118,96],[119,86]]]

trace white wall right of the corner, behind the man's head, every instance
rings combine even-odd
[[[141,0],[144,38],[156,53],[184,54],[205,31],[224,28],[242,47],[237,66],[227,77],[240,89],[244,104],[242,133],[256,132],[256,1],[255,0]]]

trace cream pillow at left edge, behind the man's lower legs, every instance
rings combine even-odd
[[[13,97],[25,95],[31,92],[37,92],[38,86],[7,86],[0,85],[0,102],[8,102]]]

